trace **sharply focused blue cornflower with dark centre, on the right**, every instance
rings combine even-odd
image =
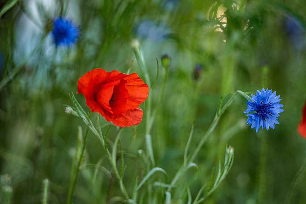
[[[247,125],[249,124],[251,128],[256,129],[258,132],[259,127],[266,128],[269,127],[274,129],[274,124],[279,124],[277,117],[279,113],[284,111],[281,109],[282,104],[279,104],[280,96],[276,96],[276,91],[272,93],[272,89],[257,91],[256,95],[251,95],[250,100],[247,101],[247,110],[243,113],[247,114]]]

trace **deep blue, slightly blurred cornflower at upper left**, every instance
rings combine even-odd
[[[52,35],[56,46],[69,46],[79,37],[79,28],[72,21],[59,17],[53,20]]]

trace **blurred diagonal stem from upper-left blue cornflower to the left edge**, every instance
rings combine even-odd
[[[46,34],[44,34],[43,38],[41,39],[41,41],[39,42],[39,44],[32,50],[32,52],[26,56],[24,59],[22,59],[12,70],[12,72],[10,72],[5,78],[3,78],[0,82],[0,91],[3,89],[4,86],[6,86],[7,83],[9,83],[9,81],[11,81],[13,79],[13,77],[21,70],[21,68],[28,62],[29,58],[31,58],[36,52],[37,50],[40,49],[40,47],[43,44],[44,39],[46,38]]]

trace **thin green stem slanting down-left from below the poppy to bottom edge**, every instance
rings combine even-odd
[[[91,118],[91,113],[89,114],[89,118]],[[69,193],[68,193],[68,197],[67,197],[67,204],[71,204],[73,202],[73,195],[74,195],[74,190],[75,190],[75,187],[76,187],[76,181],[77,181],[78,176],[79,176],[80,166],[81,166],[84,151],[85,151],[85,148],[86,148],[88,131],[89,131],[89,126],[87,126],[87,129],[86,129],[86,132],[85,132],[83,147],[82,147],[82,151],[81,151],[81,154],[80,154],[80,158],[79,158],[75,173],[74,173],[75,168],[72,167],[72,169],[71,169],[70,187],[69,187]],[[75,163],[73,162],[72,165],[75,165]]]

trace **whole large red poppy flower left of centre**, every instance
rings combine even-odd
[[[143,112],[138,106],[149,92],[148,85],[136,73],[126,75],[104,69],[93,69],[81,76],[77,89],[92,112],[121,127],[140,123]]]

